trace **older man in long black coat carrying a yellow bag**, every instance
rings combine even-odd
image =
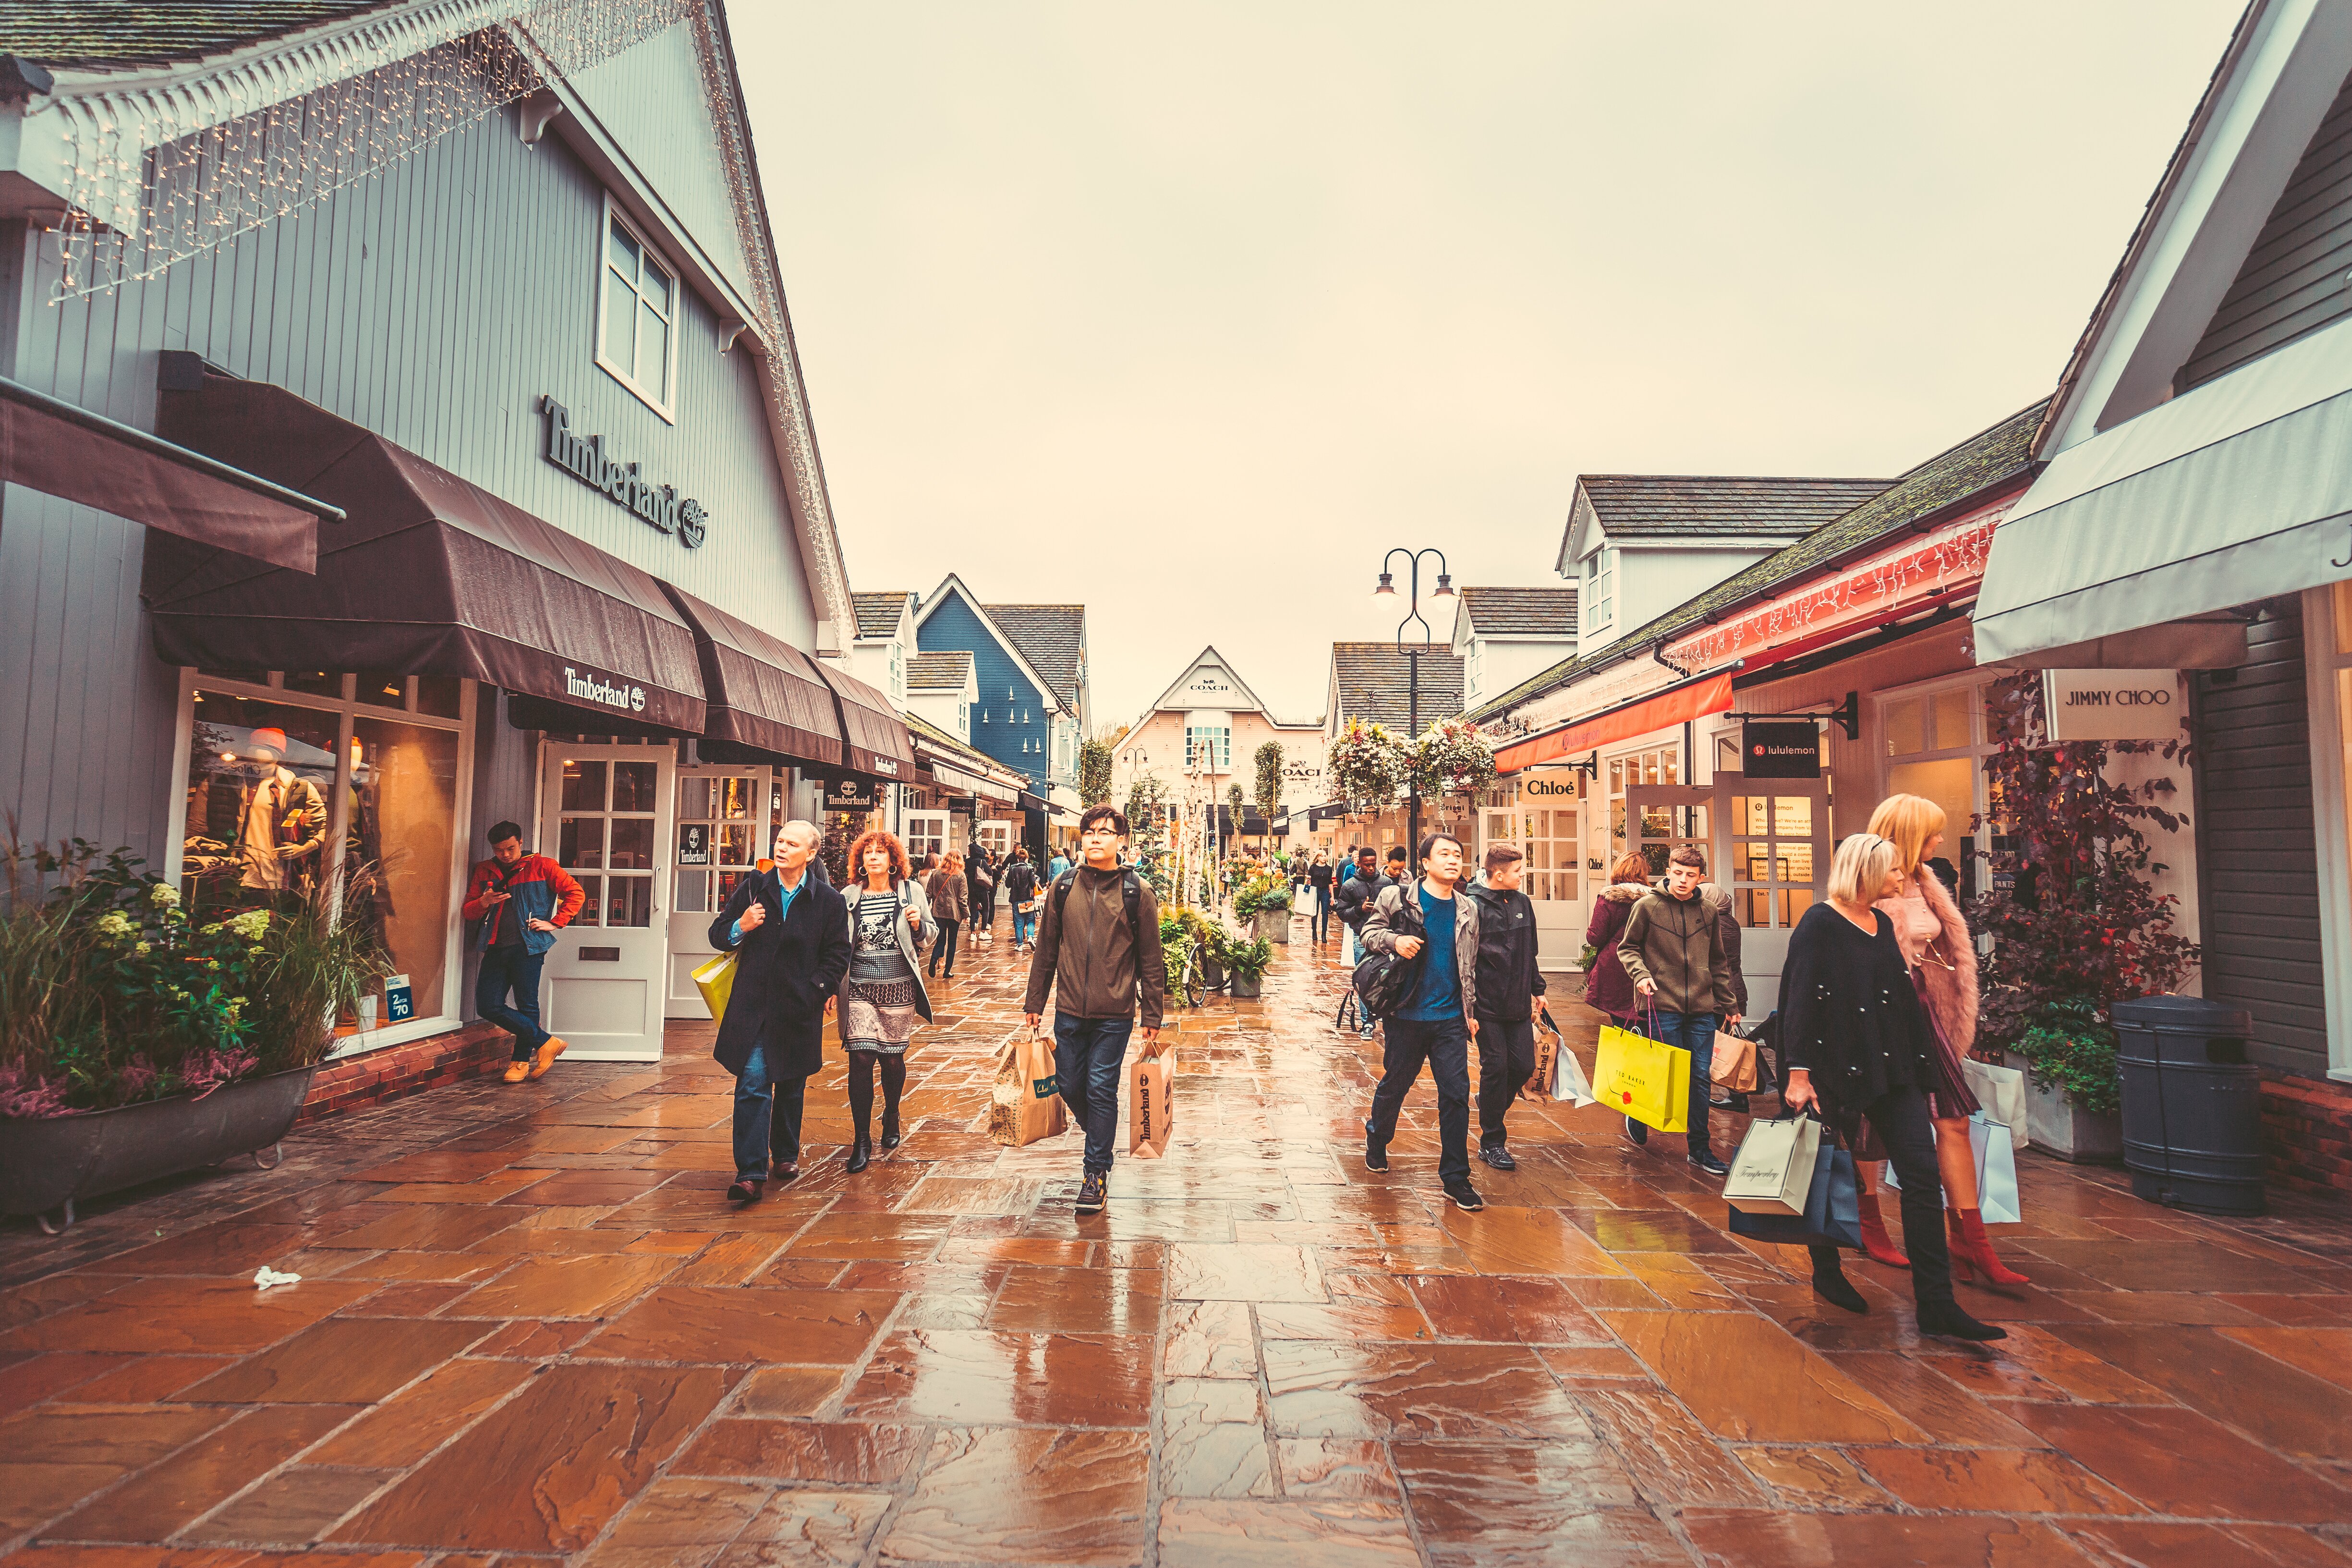
[[[736,1074],[731,1204],[757,1204],[771,1171],[800,1175],[802,1093],[826,1065],[826,1018],[849,973],[849,905],[811,870],[821,842],[814,823],[786,823],[776,867],[743,877],[710,922],[710,945],[739,954],[710,1051]]]

